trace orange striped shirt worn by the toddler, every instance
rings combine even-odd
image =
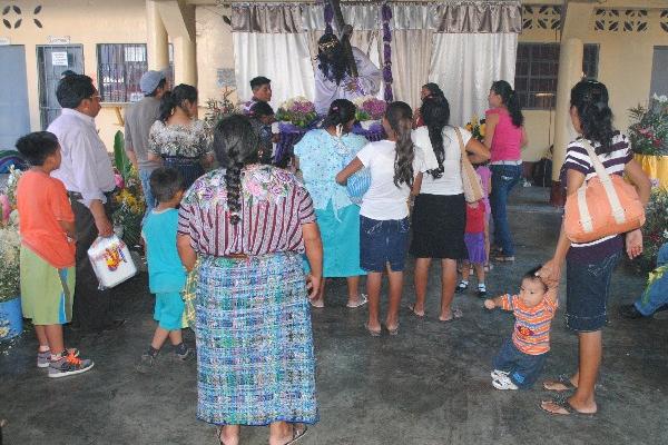
[[[557,312],[557,298],[549,298],[548,290],[538,305],[528,307],[519,295],[505,294],[501,297],[501,308],[512,310],[515,324],[512,343],[524,354],[540,355],[550,350],[550,326]]]

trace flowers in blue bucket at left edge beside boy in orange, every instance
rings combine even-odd
[[[10,170],[7,190],[0,195],[0,342],[21,334],[20,250],[16,186],[20,170]]]

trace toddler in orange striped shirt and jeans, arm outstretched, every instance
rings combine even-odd
[[[536,276],[538,266],[522,277],[519,295],[485,299],[484,307],[512,310],[515,324],[512,336],[494,358],[491,373],[497,389],[529,388],[538,378],[550,350],[550,325],[558,306],[557,288]]]

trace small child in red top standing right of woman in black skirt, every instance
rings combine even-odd
[[[456,286],[455,291],[462,293],[469,288],[469,276],[471,275],[471,265],[478,276],[478,296],[487,295],[484,285],[484,264],[487,263],[487,253],[484,247],[484,218],[487,207],[481,199],[475,202],[466,202],[466,229],[464,233],[464,244],[469,251],[469,259],[462,261],[462,280]]]

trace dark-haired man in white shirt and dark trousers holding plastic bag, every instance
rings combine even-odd
[[[99,236],[114,235],[110,219],[111,194],[116,187],[111,159],[95,127],[100,96],[88,76],[67,76],[56,90],[62,113],[48,131],[58,137],[62,162],[51,176],[70,196],[77,229],[77,280],[72,324],[86,330],[114,329],[125,320],[110,313],[109,290],[99,290],[88,259],[88,248]]]

